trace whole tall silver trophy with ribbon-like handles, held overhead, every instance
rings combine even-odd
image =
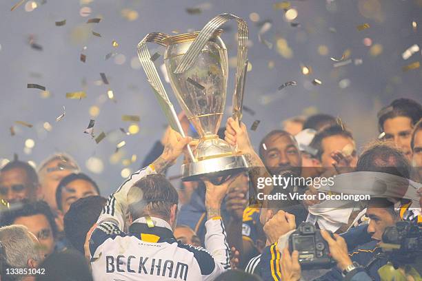
[[[181,167],[184,181],[228,176],[248,168],[243,154],[217,136],[223,118],[228,81],[227,49],[220,38],[223,30],[219,27],[231,19],[237,21],[239,32],[232,115],[240,122],[248,66],[248,26],[243,19],[233,14],[219,14],[201,32],[175,36],[150,33],[138,44],[139,60],[161,109],[170,126],[185,136],[146,43],[165,46],[164,63],[170,85],[188,120],[199,134],[199,145],[193,152],[188,147],[189,159]]]

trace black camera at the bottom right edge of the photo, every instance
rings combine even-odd
[[[422,256],[422,224],[401,221],[385,227],[380,245],[394,267],[411,264]]]

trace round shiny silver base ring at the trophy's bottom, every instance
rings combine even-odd
[[[185,163],[181,166],[183,181],[201,180],[202,178],[219,178],[237,174],[248,169],[243,155],[230,155]]]

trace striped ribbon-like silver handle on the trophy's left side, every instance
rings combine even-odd
[[[145,36],[138,43],[138,57],[143,67],[143,70],[147,75],[148,82],[150,83],[152,90],[154,90],[154,94],[157,97],[157,100],[159,101],[161,110],[163,110],[170,127],[172,127],[172,129],[174,129],[175,131],[178,131],[184,138],[185,132],[183,132],[183,128],[181,126],[179,118],[177,118],[177,113],[174,110],[174,106],[168,98],[167,92],[165,92],[163,83],[161,82],[160,76],[157,72],[157,67],[155,67],[154,63],[150,59],[151,55],[146,45],[146,43],[152,42],[162,46],[166,46],[163,43],[163,39],[166,39],[168,37],[170,37],[170,35],[161,32],[153,32],[147,34],[147,36]],[[191,162],[197,162],[197,159],[192,153],[190,145],[188,145],[187,148]]]

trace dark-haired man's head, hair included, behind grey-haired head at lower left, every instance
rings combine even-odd
[[[43,256],[48,256],[54,251],[57,226],[46,202],[24,201],[21,208],[6,213],[2,225],[24,225],[38,238]]]

